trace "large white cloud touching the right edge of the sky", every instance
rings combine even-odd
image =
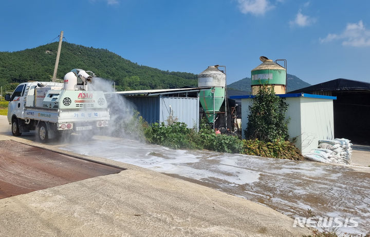
[[[342,45],[353,47],[370,46],[370,30],[366,29],[362,20],[358,23],[348,23],[340,34],[328,34],[325,38],[320,38],[320,43],[328,43],[341,40]]]

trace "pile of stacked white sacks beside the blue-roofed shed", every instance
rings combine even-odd
[[[319,147],[304,154],[308,160],[323,163],[352,164],[352,143],[348,139],[320,140]]]

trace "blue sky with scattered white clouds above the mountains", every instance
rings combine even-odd
[[[63,30],[69,43],[161,70],[226,65],[228,84],[250,77],[261,55],[285,58],[288,73],[310,84],[370,82],[369,12],[368,0],[3,0],[0,51],[44,45]]]

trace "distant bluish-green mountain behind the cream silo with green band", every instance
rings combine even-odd
[[[287,74],[287,91],[293,91],[293,90],[298,90],[307,86],[311,86],[310,84],[302,81],[299,77],[292,75],[292,74]],[[228,85],[228,88],[232,88],[235,90],[243,90],[251,93],[251,78],[246,77],[243,78],[242,80],[239,80],[237,82],[231,83]]]

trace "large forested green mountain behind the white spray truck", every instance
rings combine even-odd
[[[51,81],[58,42],[16,52],[0,52],[0,86],[28,80]],[[106,49],[62,43],[57,78],[73,68],[93,71],[114,80],[116,90],[144,90],[197,86],[197,75],[141,66]],[[12,85],[13,87],[15,86]],[[9,88],[11,89],[11,88]]]

